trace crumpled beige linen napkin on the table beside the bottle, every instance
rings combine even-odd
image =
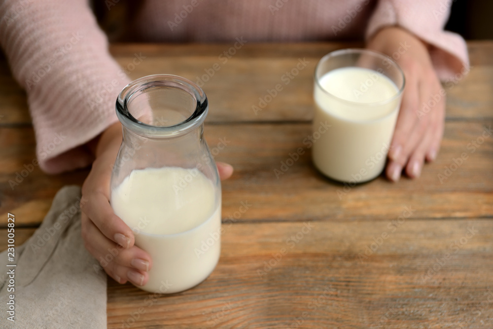
[[[84,248],[79,201],[80,187],[60,189],[34,235],[16,245],[15,261],[0,254],[0,328],[106,328],[106,273]],[[7,291],[10,269],[14,292]],[[15,322],[7,320],[10,294]]]

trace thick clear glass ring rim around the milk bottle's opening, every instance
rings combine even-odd
[[[156,86],[173,87],[189,93],[196,101],[195,110],[188,118],[171,126],[155,126],[138,120],[128,109],[130,100],[136,93]],[[138,78],[122,89],[116,99],[116,115],[124,127],[136,134],[156,138],[175,137],[200,126],[207,116],[208,105],[204,90],[194,82],[174,74],[152,74]]]

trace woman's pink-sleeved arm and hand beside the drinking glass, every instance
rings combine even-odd
[[[440,79],[468,72],[465,41],[443,31],[450,1],[380,0],[367,29],[367,47],[392,57],[406,86],[389,150],[387,177],[401,172],[419,177],[425,161],[440,148],[445,120],[445,91]]]

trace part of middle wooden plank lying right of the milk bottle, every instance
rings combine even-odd
[[[491,217],[493,136],[474,153],[467,148],[491,123],[449,122],[437,161],[427,164],[418,180],[390,183],[381,177],[352,188],[325,179],[313,168],[310,149],[302,143],[310,134],[308,124],[251,125],[235,129],[234,135],[221,127],[224,133],[216,129],[215,134],[232,142],[217,157],[236,170],[223,182],[223,213],[233,216],[240,203],[248,201],[251,211],[242,220],[373,220],[396,217],[406,205],[417,208],[421,218]],[[282,162],[299,147],[306,153],[277,179],[274,170],[282,171]],[[468,158],[457,169],[453,159],[460,160],[462,153]],[[452,168],[450,177],[445,167]],[[444,176],[443,183],[438,175]]]

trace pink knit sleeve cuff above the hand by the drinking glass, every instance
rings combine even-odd
[[[366,39],[386,26],[399,26],[431,45],[430,57],[441,80],[469,70],[467,46],[458,34],[444,31],[452,1],[379,0],[366,30]]]

